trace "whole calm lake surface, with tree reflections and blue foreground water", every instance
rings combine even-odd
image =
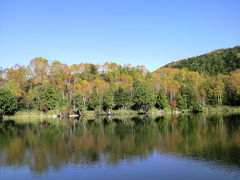
[[[3,121],[0,179],[240,179],[240,115]]]

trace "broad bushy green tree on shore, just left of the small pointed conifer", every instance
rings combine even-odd
[[[152,84],[149,82],[134,82],[133,100],[136,109],[148,111],[155,104],[155,95]]]

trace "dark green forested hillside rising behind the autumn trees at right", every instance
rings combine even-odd
[[[240,68],[240,46],[215,50],[200,56],[172,62],[164,67],[187,68],[190,71],[198,71],[207,75],[229,74]]]

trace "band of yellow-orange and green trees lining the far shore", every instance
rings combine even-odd
[[[195,68],[205,66],[197,65],[205,56],[208,55],[196,60]],[[216,59],[219,60],[219,56]],[[150,72],[144,66],[131,64],[67,65],[37,57],[27,66],[0,69],[0,115],[67,108],[74,111],[199,112],[206,106],[240,106],[240,71],[236,69],[240,64],[235,61],[233,58],[226,69],[219,66],[222,73],[214,69],[208,73],[198,72],[201,70],[192,69],[192,65],[182,69],[163,67]],[[184,61],[188,62],[191,64],[192,59]]]

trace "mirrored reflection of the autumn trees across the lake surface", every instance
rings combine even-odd
[[[153,150],[240,165],[238,115],[180,115],[63,123],[0,124],[0,163],[44,172],[73,163],[116,164]]]

